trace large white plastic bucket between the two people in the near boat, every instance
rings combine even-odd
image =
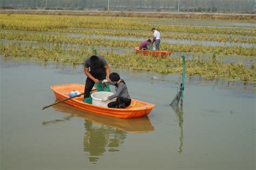
[[[104,97],[109,97],[111,95],[113,95],[113,93],[109,92],[109,91],[98,91],[96,93],[92,93],[91,94],[92,104],[107,108],[107,104],[109,104],[110,102],[114,102],[115,100],[112,99],[112,100],[108,100],[106,102],[103,102],[102,99]]]

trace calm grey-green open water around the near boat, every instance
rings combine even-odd
[[[255,169],[255,84],[186,79],[184,107],[172,109],[180,75],[117,70],[133,98],[156,104],[123,120],[67,104],[42,111],[50,86],[85,82],[82,66],[0,66],[1,169]]]

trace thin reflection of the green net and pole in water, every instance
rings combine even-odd
[[[172,106],[171,106],[172,107]],[[180,146],[179,146],[179,150],[178,152],[181,153],[182,152],[182,146],[183,146],[183,107],[181,106],[180,108],[177,107],[172,107],[173,111],[176,113],[177,116],[177,120],[179,122],[179,128],[180,128],[180,137],[179,137],[179,141],[180,141]]]

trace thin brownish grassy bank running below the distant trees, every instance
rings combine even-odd
[[[10,13],[10,14],[23,14],[23,15],[66,15],[66,16],[104,16],[104,17],[134,17],[134,18],[169,18],[169,19],[210,19],[210,20],[239,20],[242,22],[252,22],[256,23],[255,16],[254,15],[235,15],[228,13],[225,14],[215,14],[215,13],[169,13],[167,12],[155,12],[147,13],[147,12],[130,12],[131,10],[126,9],[128,12],[122,11],[122,12],[97,12],[97,11],[73,11],[76,10],[75,8],[67,8],[66,10],[72,10],[72,11],[47,11],[47,10],[34,10],[34,11],[1,11],[0,13]],[[251,12],[250,12],[251,13]],[[252,11],[252,14],[254,11]]]

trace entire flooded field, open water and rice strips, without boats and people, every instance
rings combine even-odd
[[[1,14],[0,23],[0,169],[256,168],[255,22]],[[152,27],[170,56],[135,53]],[[156,104],[149,116],[64,103],[42,111],[56,101],[50,86],[85,83],[94,48],[132,98]],[[172,108],[181,54],[184,107]]]

